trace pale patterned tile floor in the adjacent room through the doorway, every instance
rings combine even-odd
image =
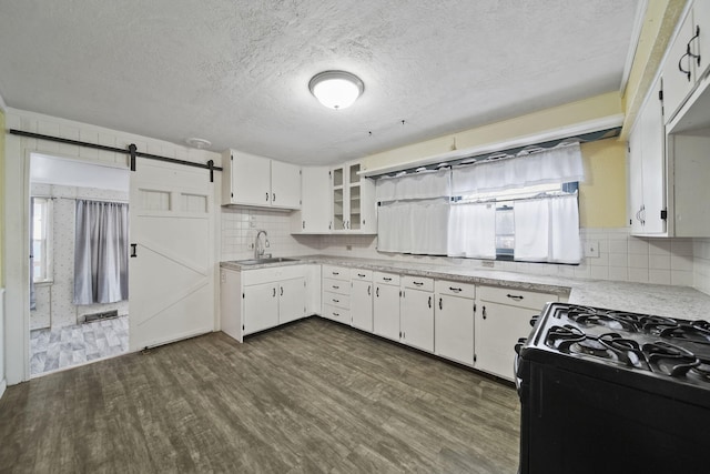
[[[31,375],[126,353],[129,316],[30,332]]]

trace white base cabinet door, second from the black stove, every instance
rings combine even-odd
[[[474,365],[474,300],[438,294],[434,335],[436,355]]]

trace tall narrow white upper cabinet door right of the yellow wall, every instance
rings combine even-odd
[[[660,80],[641,107],[629,135],[631,233],[667,232],[667,165]]]

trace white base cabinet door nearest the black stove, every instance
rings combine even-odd
[[[539,313],[539,311],[538,311]],[[499,377],[514,380],[515,344],[527,337],[536,311],[484,301],[476,312],[476,357],[474,366]]]

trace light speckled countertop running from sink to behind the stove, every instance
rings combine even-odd
[[[236,262],[222,262],[221,266],[244,271],[276,265],[321,263],[539,291],[561,296],[569,295],[569,302],[574,304],[656,314],[659,316],[682,317],[688,320],[710,319],[708,314],[710,312],[710,295],[688,286],[546,276],[500,270],[467,269],[455,264],[442,265],[418,262],[395,262],[389,260],[354,259],[347,256],[305,255],[293,259],[297,260],[244,266]]]

